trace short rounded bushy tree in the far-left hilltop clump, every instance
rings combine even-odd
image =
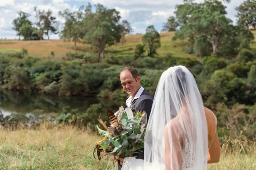
[[[24,40],[39,40],[40,37],[35,33],[36,29],[30,23],[24,23],[19,29],[20,35]]]

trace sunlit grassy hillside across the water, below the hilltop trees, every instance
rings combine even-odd
[[[256,31],[252,31],[256,37]],[[160,33],[161,47],[157,50],[160,56],[172,53],[175,57],[196,57],[194,54],[187,54],[184,51],[186,41],[172,41],[174,32]],[[106,47],[106,56],[131,56],[134,55],[135,46],[142,43],[143,35],[128,35],[126,43],[121,45],[113,45]],[[253,43],[252,48],[256,48],[256,43]],[[77,43],[77,50],[74,50],[73,42],[64,42],[60,40],[38,40],[38,41],[22,41],[22,40],[0,40],[0,50],[2,49],[22,49],[25,48],[32,55],[38,57],[50,56],[53,51],[58,57],[65,57],[68,52],[89,52],[90,45]],[[95,52],[97,49],[94,49]]]

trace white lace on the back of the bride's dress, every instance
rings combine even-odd
[[[185,148],[182,150],[182,170],[189,170],[194,167],[194,156],[191,158],[191,146],[187,139],[185,139]]]

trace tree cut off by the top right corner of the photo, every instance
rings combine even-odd
[[[246,0],[240,6],[235,8],[237,11],[237,23],[256,29],[256,0]]]

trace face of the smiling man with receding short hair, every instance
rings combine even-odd
[[[120,74],[123,89],[129,95],[134,95],[140,89],[140,77],[138,76],[136,80],[129,71],[123,71]]]

